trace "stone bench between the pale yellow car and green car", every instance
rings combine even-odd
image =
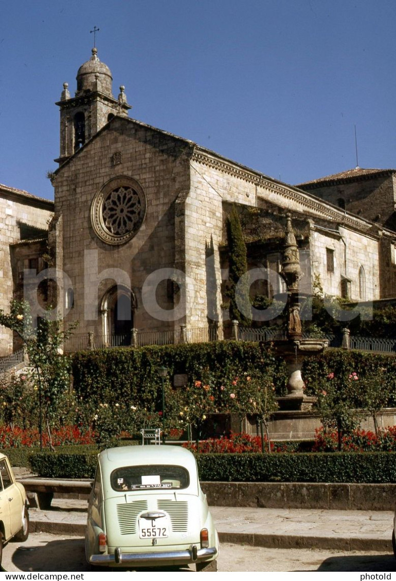
[[[32,508],[48,510],[52,498],[58,494],[84,494],[88,496],[92,488],[92,480],[58,480],[52,478],[18,478],[26,490],[26,496]]]

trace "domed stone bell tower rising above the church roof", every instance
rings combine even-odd
[[[118,99],[112,94],[112,74],[105,63],[98,59],[98,49],[92,48],[92,56],[81,64],[77,72],[76,96],[71,97],[69,85],[63,83],[60,101],[60,155],[55,162],[66,162],[88,139],[91,139],[115,115],[127,116],[128,105],[124,87],[120,87]]]

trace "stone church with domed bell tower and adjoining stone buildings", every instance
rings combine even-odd
[[[131,119],[125,89],[113,95],[96,48],[77,72],[74,96],[65,83],[56,105],[55,205],[13,194],[20,225],[12,235],[2,229],[0,306],[18,296],[26,268],[33,295],[32,281],[56,279],[48,300],[56,299],[66,327],[79,322],[68,350],[230,336],[232,209],[247,246],[251,295],[271,299],[284,290],[281,250],[291,214],[302,292],[312,293],[315,278],[326,295],[351,302],[396,296],[396,170],[356,167],[298,186],[274,180]],[[5,223],[10,191],[0,187]],[[253,311],[266,321],[265,310]],[[3,329],[1,339],[6,355],[12,337]]]

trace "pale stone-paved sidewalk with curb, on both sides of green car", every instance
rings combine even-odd
[[[54,498],[30,509],[32,531],[84,535],[87,502]],[[391,551],[393,512],[211,507],[223,543],[340,551]]]

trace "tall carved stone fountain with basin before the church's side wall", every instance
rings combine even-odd
[[[299,317],[299,280],[302,277],[299,264],[298,246],[291,227],[291,215],[287,214],[287,228],[284,244],[281,275],[287,286],[287,332],[286,339],[273,341],[273,348],[277,355],[284,358],[288,370],[287,396],[279,397],[280,411],[294,410],[306,412],[311,410],[315,397],[304,393],[304,380],[301,376],[301,367],[305,357],[313,357],[322,353],[329,345],[327,339],[303,339],[301,320]]]

